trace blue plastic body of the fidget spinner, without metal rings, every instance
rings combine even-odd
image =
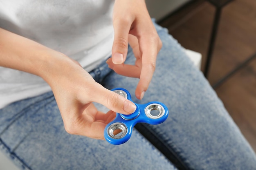
[[[124,89],[124,88],[114,88],[112,89],[112,91],[116,91],[116,90],[121,90],[124,91],[127,94],[127,99],[131,100],[131,96],[130,93]],[[133,102],[133,101],[132,101]],[[134,102],[133,102],[134,103]],[[145,108],[147,106],[149,106],[150,104],[158,104],[161,105],[164,108],[164,113],[161,117],[157,118],[150,118],[146,115],[145,113]],[[130,114],[130,115],[122,115],[117,113],[116,118],[110,122],[105,130],[104,130],[104,137],[106,139],[106,141],[108,141],[110,144],[114,144],[114,145],[119,145],[119,144],[124,144],[126,141],[128,141],[132,135],[132,128],[135,126],[135,124],[137,123],[148,123],[148,124],[161,124],[162,122],[164,122],[167,117],[168,117],[168,108],[160,103],[160,102],[149,102],[147,104],[136,104],[137,109],[135,110],[134,113]],[[120,139],[116,139],[115,137],[111,137],[109,135],[109,127],[112,126],[113,124],[124,124],[127,127],[127,133],[125,136],[121,137]]]

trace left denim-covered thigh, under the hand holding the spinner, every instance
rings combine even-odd
[[[27,106],[17,102],[0,110],[1,120],[5,119],[0,126],[0,148],[24,169],[176,170],[136,130],[126,144],[114,146],[65,132],[52,93],[25,103]]]

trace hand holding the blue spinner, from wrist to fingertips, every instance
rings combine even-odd
[[[78,63],[63,58],[53,72],[43,77],[52,88],[65,130],[75,135],[104,139],[104,128],[116,117],[116,112],[131,114],[136,109],[135,104],[95,82]],[[110,111],[102,113],[92,102],[102,104]]]

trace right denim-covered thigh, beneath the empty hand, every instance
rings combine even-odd
[[[134,95],[137,79],[111,73],[104,79],[104,85],[110,89],[128,89],[136,103],[163,102],[169,109],[168,119],[160,125],[145,124],[141,132],[147,130],[147,135],[150,131],[159,139],[155,141],[157,145],[166,146],[162,151],[168,149],[168,153],[174,153],[185,166],[193,169],[256,168],[252,148],[202,73],[176,40],[164,29],[158,27],[157,30],[163,47],[144,99],[139,101]],[[128,56],[127,62],[132,63],[131,49]]]

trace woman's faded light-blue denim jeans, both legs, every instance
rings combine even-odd
[[[138,79],[117,75],[105,62],[90,74],[106,88],[126,88],[135,103],[164,103],[164,123],[136,126],[119,146],[70,135],[48,92],[0,110],[0,149],[25,170],[256,170],[254,151],[207,80],[166,29],[155,26],[163,47],[141,101]],[[134,61],[129,47],[126,63]]]

